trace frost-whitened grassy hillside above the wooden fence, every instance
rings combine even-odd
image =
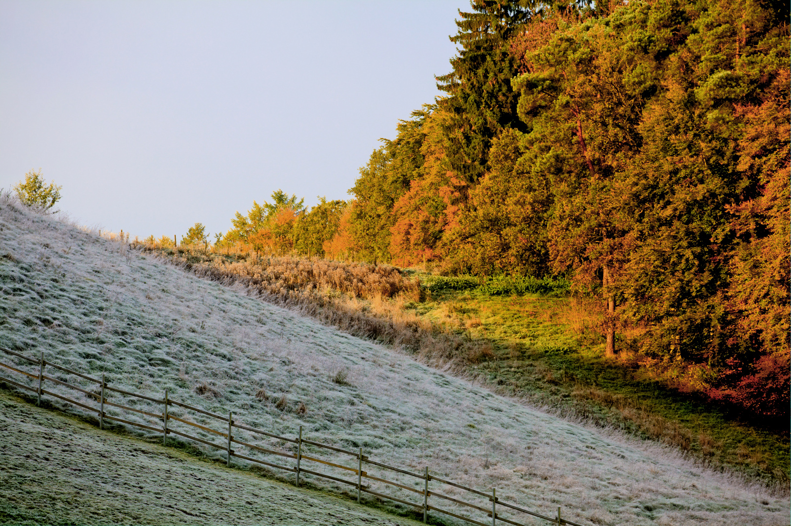
[[[785,496],[496,396],[8,198],[0,256],[0,346],[44,351],[120,389],[168,389],[282,436],[302,425],[313,441],[362,447],[413,472],[430,465],[527,509],[562,505],[581,523],[788,524]]]

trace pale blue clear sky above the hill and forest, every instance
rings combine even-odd
[[[81,224],[141,237],[225,231],[278,188],[346,199],[439,94],[457,9],[0,0],[0,187],[42,168]]]

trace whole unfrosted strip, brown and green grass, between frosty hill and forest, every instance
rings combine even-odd
[[[357,336],[403,345],[432,366],[450,360],[454,373],[497,393],[672,445],[712,467],[789,491],[787,422],[751,418],[689,393],[686,383],[676,381],[685,364],[653,363],[646,369],[647,357],[630,352],[629,344],[619,344],[623,351],[605,359],[604,338],[596,330],[602,313],[592,300],[492,296],[489,290],[510,285],[493,280],[482,289],[471,276],[442,278],[407,269],[424,286],[418,293],[414,281],[392,280],[388,272],[394,269],[388,267],[373,272],[370,265],[337,261],[146,247],[152,249],[199,276],[238,280],[267,301]],[[389,276],[387,287],[382,273]],[[399,294],[383,297],[394,285]],[[517,287],[523,285],[528,286]]]

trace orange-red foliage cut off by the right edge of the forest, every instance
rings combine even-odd
[[[743,242],[732,253],[729,308],[740,339],[761,340],[770,351],[789,348],[789,70],[763,93],[759,105],[737,105],[744,116],[740,171],[759,181],[759,195],[730,205]],[[755,342],[757,343],[757,342]]]

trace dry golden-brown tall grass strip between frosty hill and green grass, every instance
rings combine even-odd
[[[143,246],[153,254],[198,276],[222,284],[246,287],[261,299],[297,310],[353,336],[404,348],[418,359],[446,370],[490,358],[491,345],[406,314],[401,306],[420,299],[420,284],[406,280],[388,265],[342,263],[295,257],[252,257],[228,261],[188,248],[167,253]],[[385,302],[384,298],[394,298]],[[370,299],[362,309],[357,299]]]

